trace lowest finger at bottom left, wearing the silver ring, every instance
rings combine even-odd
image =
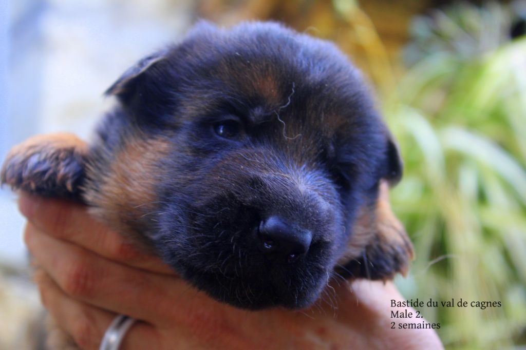
[[[77,302],[64,294],[43,271],[35,273],[42,303],[61,330],[86,350],[99,348],[105,331],[117,316],[100,308]],[[53,331],[53,330],[51,330]],[[160,348],[155,328],[144,322],[134,324],[126,333],[120,350]]]

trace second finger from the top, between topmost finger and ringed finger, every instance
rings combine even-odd
[[[100,258],[77,245],[39,233],[31,223],[25,241],[38,266],[75,300],[155,325],[168,323],[177,307],[188,308],[180,300],[189,286],[175,276]]]

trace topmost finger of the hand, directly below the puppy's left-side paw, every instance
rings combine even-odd
[[[174,274],[159,258],[141,252],[122,235],[108,230],[77,203],[44,199],[22,192],[18,201],[22,214],[41,232],[104,256],[157,273]]]

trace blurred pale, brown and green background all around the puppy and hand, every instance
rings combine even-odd
[[[89,139],[102,92],[198,18],[273,19],[335,41],[400,143],[392,205],[416,260],[406,298],[448,349],[526,349],[526,1],[0,1],[0,158],[35,133]],[[0,191],[0,350],[31,348],[38,310],[15,194]]]

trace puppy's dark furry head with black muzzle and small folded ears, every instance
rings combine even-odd
[[[162,144],[142,150],[155,195],[136,222],[183,277],[240,307],[313,303],[380,180],[401,175],[356,68],[277,24],[200,24],[107,92]]]

